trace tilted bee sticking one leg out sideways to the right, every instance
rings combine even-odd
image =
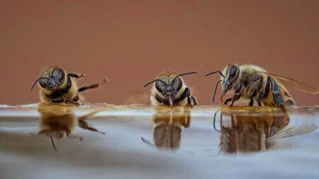
[[[79,102],[82,101],[82,96],[80,96],[79,93],[91,88],[97,88],[108,82],[106,78],[99,83],[78,88],[74,79],[81,79],[84,76],[84,74],[67,73],[64,69],[55,66],[46,67],[41,71],[40,78],[33,83],[31,91],[35,84],[38,83],[41,102],[80,105]]]

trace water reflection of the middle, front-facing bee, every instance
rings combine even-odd
[[[141,137],[142,142],[157,149],[176,150],[181,143],[183,127],[188,128],[191,123],[190,109],[189,107],[156,108],[152,122],[154,144]]]

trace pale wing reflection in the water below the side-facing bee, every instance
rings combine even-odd
[[[315,125],[293,125],[287,129],[281,130],[270,139],[279,139],[284,137],[293,137],[296,135],[307,134],[318,129],[318,126]]]

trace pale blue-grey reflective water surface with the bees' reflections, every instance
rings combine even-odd
[[[0,178],[318,178],[319,107],[0,108]]]

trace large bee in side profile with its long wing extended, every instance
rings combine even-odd
[[[285,110],[286,106],[296,105],[296,102],[291,97],[289,91],[286,90],[284,84],[290,85],[300,91],[313,94],[319,93],[313,86],[295,79],[270,74],[261,67],[252,64],[240,66],[228,64],[223,71],[213,71],[206,74],[206,76],[216,73],[219,73],[221,77],[216,82],[213,102],[218,83],[221,81],[222,93],[220,100],[224,105],[227,105],[231,101],[230,106],[233,106],[234,102],[242,97],[250,99],[250,106],[254,105],[254,100],[256,100],[259,106],[264,103],[265,106],[277,106]],[[223,96],[230,89],[235,91],[234,96],[223,101]]]

